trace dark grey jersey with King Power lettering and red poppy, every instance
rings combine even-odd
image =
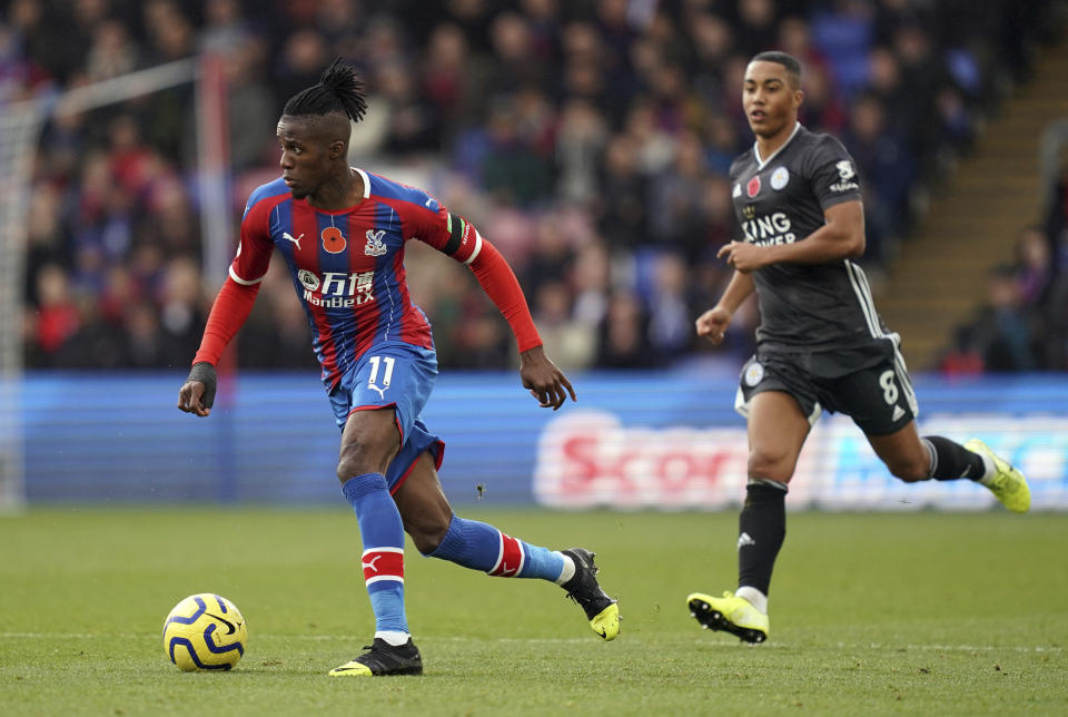
[[[842,144],[800,124],[771,157],[759,163],[754,146],[730,175],[741,239],[758,245],[803,242],[823,226],[824,209],[861,198],[857,167]],[[828,351],[884,335],[868,279],[849,259],[773,264],[753,278],[761,351]]]

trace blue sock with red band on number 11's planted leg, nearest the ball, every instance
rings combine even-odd
[[[370,608],[375,612],[375,633],[408,633],[404,612],[404,523],[389,487],[382,473],[364,473],[342,485],[364,541],[363,569]],[[390,640],[393,641],[393,640]],[[403,640],[402,640],[403,641]]]

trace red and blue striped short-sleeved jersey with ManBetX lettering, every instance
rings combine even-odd
[[[404,246],[419,239],[471,264],[482,236],[422,189],[357,169],[364,198],[326,212],[295,199],[281,178],[253,191],[230,278],[263,281],[277,249],[312,326],[323,380],[334,386],[370,346],[400,341],[433,348],[431,325],[408,297]]]

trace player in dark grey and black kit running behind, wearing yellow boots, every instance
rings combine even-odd
[[[756,137],[731,165],[742,240],[719,257],[734,275],[696,331],[718,344],[739,305],[756,292],[756,354],[745,363],[735,407],[749,429],[749,484],[739,518],[738,590],[694,592],[691,615],[748,642],[768,639],[768,587],[785,537],[787,485],[823,410],[846,413],[890,472],[906,482],[973,480],[1025,512],[1024,475],[979,440],[920,436],[900,338],[876,313],[863,271],[864,213],[852,157],[837,139],[798,121],[801,66],[761,52],[745,69],[742,104]]]

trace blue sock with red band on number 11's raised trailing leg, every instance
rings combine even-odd
[[[445,538],[429,556],[502,578],[541,578],[556,582],[564,570],[564,557],[558,552],[458,515],[453,515]]]

